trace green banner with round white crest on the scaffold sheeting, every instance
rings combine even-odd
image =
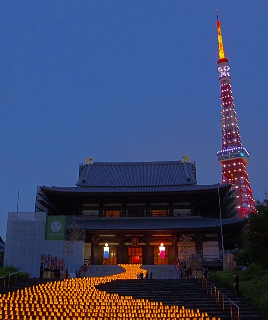
[[[46,216],[45,240],[66,240],[67,217]]]

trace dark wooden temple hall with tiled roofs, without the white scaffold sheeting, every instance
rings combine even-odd
[[[182,161],[80,164],[75,187],[39,187],[35,211],[68,217],[92,264],[173,264],[184,237],[187,254],[217,258],[240,246],[243,219],[234,219],[230,185],[198,185],[195,163]],[[75,228],[74,228],[75,226]],[[104,245],[109,258],[103,258]],[[160,257],[160,243],[165,258]]]

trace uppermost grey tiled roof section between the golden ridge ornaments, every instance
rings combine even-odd
[[[94,162],[83,165],[77,186],[156,187],[196,184],[191,163]]]

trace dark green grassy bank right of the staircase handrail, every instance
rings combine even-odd
[[[268,270],[259,265],[251,265],[246,270],[220,271],[210,277],[234,290],[235,273],[239,276],[242,298],[254,305],[268,319]]]

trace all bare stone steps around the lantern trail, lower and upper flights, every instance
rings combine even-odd
[[[132,296],[134,299],[148,299],[149,301],[162,302],[164,305],[184,306],[185,309],[199,309],[200,313],[208,313],[210,319],[215,317],[221,320],[231,320],[230,303],[225,301],[225,312],[218,308],[215,297],[211,299],[209,293],[202,289],[199,279],[178,279],[179,273],[176,267],[170,266],[142,266],[150,273],[153,272],[153,279],[132,279],[115,280],[100,284],[97,288],[107,293],[117,293],[120,296]],[[91,266],[88,273],[84,276],[108,276],[124,272],[120,266]],[[144,272],[145,273],[145,272]],[[175,277],[175,279],[174,279]],[[25,279],[10,283],[9,288],[0,287],[0,293],[8,291],[17,291],[25,287],[32,287],[41,283],[62,281],[61,279]],[[234,292],[217,284],[215,280],[209,279],[218,290],[223,292],[240,308],[240,320],[264,320],[254,308],[250,307],[244,301],[236,297]],[[220,296],[220,305],[222,306],[222,297]],[[233,320],[238,320],[237,309],[233,308]]]

